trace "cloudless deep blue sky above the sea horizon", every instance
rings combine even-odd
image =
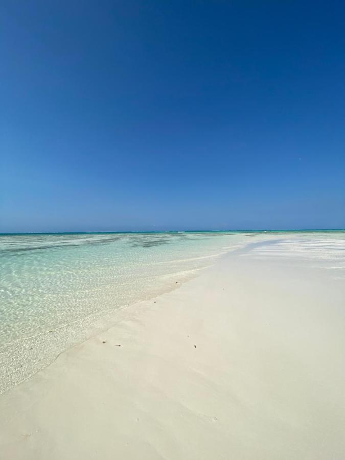
[[[0,16],[0,232],[345,228],[344,2]]]

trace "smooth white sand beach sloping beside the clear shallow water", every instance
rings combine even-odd
[[[345,458],[344,271],[289,241],[119,311],[2,395],[0,458]]]

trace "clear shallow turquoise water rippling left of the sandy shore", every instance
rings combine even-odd
[[[243,244],[234,233],[0,236],[0,392]]]

